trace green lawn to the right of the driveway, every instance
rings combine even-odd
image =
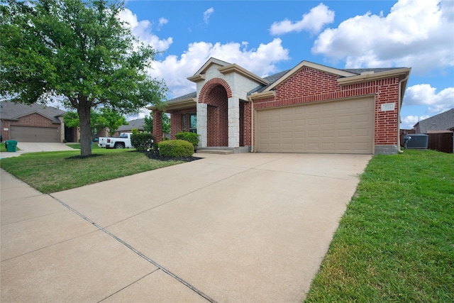
[[[305,302],[454,302],[454,155],[377,155]]]

